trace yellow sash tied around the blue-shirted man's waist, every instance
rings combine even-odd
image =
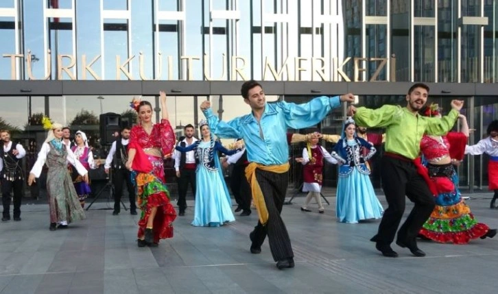
[[[263,192],[261,192],[261,187],[259,187],[258,180],[256,179],[256,169],[271,171],[272,173],[285,173],[289,170],[289,162],[279,165],[263,165],[256,162],[251,162],[246,167],[246,178],[251,186],[254,206],[256,206],[258,210],[259,221],[261,222],[261,224],[265,225],[268,221],[268,210],[266,209]]]

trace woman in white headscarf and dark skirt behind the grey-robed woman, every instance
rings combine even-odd
[[[76,132],[74,136],[75,146],[71,148],[76,160],[79,160],[83,167],[89,171],[90,169],[97,169],[99,164],[93,160],[93,152],[88,147],[88,140],[86,139],[86,134],[82,131]],[[88,194],[91,193],[90,186],[88,183],[84,182],[81,175],[78,175],[78,171],[71,169],[71,175],[73,177],[74,188],[78,194],[78,199],[80,200],[81,207],[85,206],[85,199]],[[88,181],[89,182],[89,181]]]

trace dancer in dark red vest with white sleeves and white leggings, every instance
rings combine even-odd
[[[321,135],[322,136],[322,135]],[[311,198],[315,198],[318,204],[318,213],[324,213],[322,205],[322,182],[323,182],[323,160],[327,160],[332,164],[337,164],[337,160],[325,150],[324,147],[318,145],[318,136],[309,136],[307,146],[303,149],[303,157],[296,158],[296,162],[300,162],[303,167],[303,192],[308,192],[305,199],[305,204],[301,206],[301,211],[311,212],[308,208]]]

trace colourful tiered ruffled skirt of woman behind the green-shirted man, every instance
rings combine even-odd
[[[471,208],[460,195],[458,175],[454,170],[451,181],[455,184],[455,190],[436,196],[436,207],[420,229],[420,234],[440,243],[466,244],[471,239],[484,236],[489,227],[474,219]]]

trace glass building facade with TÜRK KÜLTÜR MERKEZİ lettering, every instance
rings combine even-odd
[[[181,134],[205,99],[222,119],[247,113],[247,79],[263,81],[270,101],[353,92],[372,108],[403,105],[412,82],[427,82],[444,109],[465,101],[477,143],[498,119],[497,2],[3,0],[0,123],[34,157],[42,115],[88,132],[98,149],[100,114],[131,122],[132,97],[158,106],[159,90]],[[334,110],[300,132],[339,133],[343,119]],[[486,168],[485,156],[466,160],[462,185],[486,188]],[[333,167],[326,177],[335,184]]]

